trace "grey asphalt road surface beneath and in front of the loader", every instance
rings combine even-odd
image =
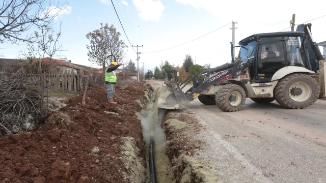
[[[161,84],[161,82],[160,82]],[[326,100],[306,109],[246,99],[223,112],[198,99],[180,112],[205,124],[196,157],[222,182],[326,182]]]

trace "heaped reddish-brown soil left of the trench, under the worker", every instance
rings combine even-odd
[[[112,105],[104,85],[93,87],[86,105],[81,104],[83,94],[65,101],[60,112],[68,114],[70,123],[46,123],[0,138],[0,182],[129,182],[123,176],[121,137],[133,137],[145,160],[141,121],[135,115],[141,107],[134,100],[144,103],[146,90],[137,82],[125,89],[116,86],[118,104]]]

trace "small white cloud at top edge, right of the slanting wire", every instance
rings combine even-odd
[[[162,12],[165,7],[161,1],[152,0],[132,0],[133,4],[138,10],[138,15],[145,21],[156,21],[163,16]]]

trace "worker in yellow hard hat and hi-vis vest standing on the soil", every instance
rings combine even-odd
[[[107,91],[107,102],[110,104],[117,104],[113,101],[114,96],[114,87],[117,83],[117,75],[114,70],[118,69],[119,66],[122,66],[122,63],[118,64],[116,62],[111,62],[110,66],[105,71],[105,85]]]

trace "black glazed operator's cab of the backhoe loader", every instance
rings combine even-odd
[[[304,67],[300,52],[302,36],[304,32],[281,32],[256,34],[241,40],[238,56],[250,64],[252,81],[269,82],[284,67]]]

